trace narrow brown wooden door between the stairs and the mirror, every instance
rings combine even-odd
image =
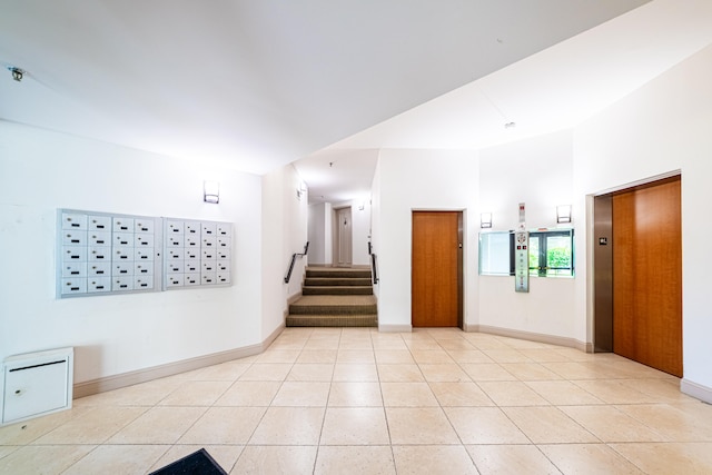
[[[462,327],[462,212],[413,212],[414,327]]]

